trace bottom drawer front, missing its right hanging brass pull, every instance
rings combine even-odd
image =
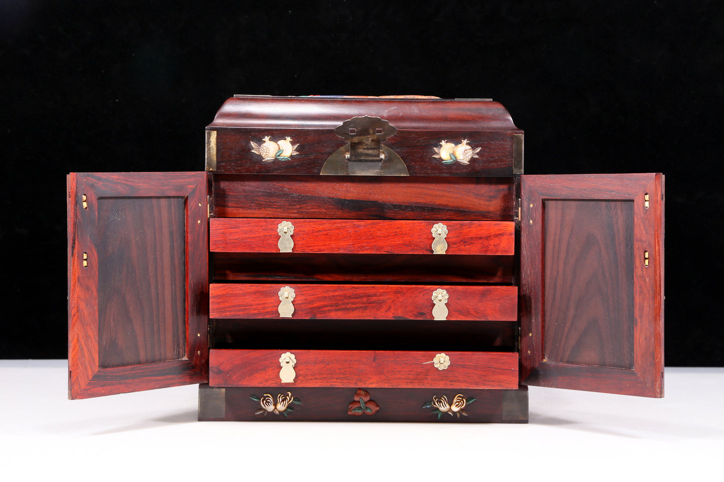
[[[517,389],[518,353],[290,350],[293,366],[282,368],[281,350],[210,350],[211,386]],[[443,363],[445,365],[445,363]],[[282,373],[285,371],[285,373]],[[282,383],[281,376],[293,377]]]

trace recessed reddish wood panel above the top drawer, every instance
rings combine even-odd
[[[214,216],[513,221],[511,178],[214,174]]]

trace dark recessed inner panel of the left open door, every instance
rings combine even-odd
[[[99,198],[98,365],[183,358],[185,202]]]

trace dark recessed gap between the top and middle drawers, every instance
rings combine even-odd
[[[513,284],[513,256],[211,253],[214,282]]]

